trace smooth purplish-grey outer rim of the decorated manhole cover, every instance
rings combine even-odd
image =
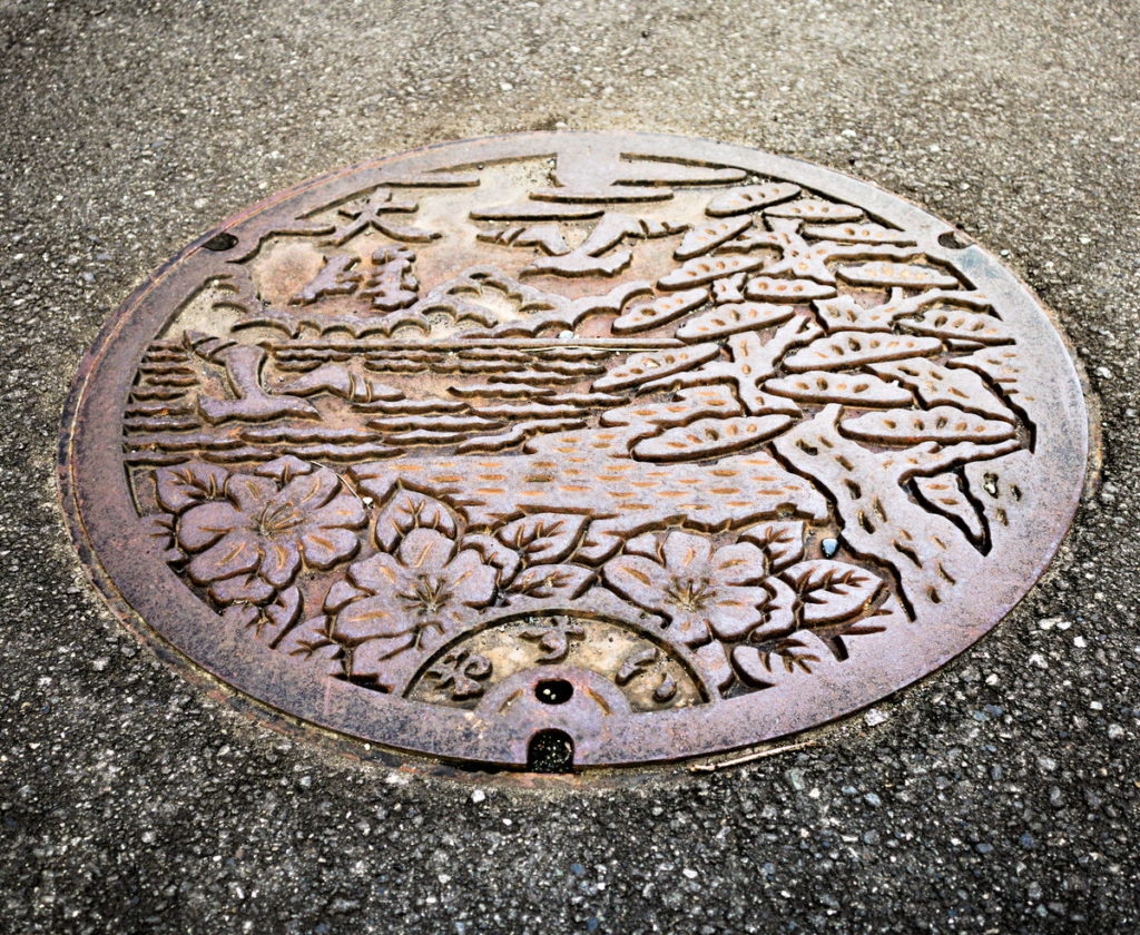
[[[114,543],[117,538],[117,531],[128,528],[128,521],[137,521],[137,518],[128,509],[131,495],[127,488],[121,463],[115,470],[108,471],[108,467],[115,466],[112,450],[114,446],[106,444],[107,436],[100,436],[98,431],[93,430],[98,413],[92,412],[95,405],[92,400],[101,399],[105,393],[112,391],[119,393],[115,397],[117,400],[125,399],[127,388],[132,380],[133,368],[141,350],[160,327],[157,322],[148,322],[147,327],[138,327],[138,322],[132,320],[133,315],[144,300],[154,298],[163,290],[177,290],[181,277],[192,276],[193,270],[186,266],[186,261],[190,260],[202,250],[203,244],[219,233],[230,229],[241,230],[242,226],[252,223],[266,212],[286,202],[303,197],[310,189],[326,186],[331,181],[342,184],[349,193],[357,190],[360,186],[351,181],[353,178],[388,163],[413,160],[426,161],[422,168],[434,168],[433,164],[442,166],[448,164],[448,152],[453,147],[464,147],[469,152],[473,147],[482,149],[482,158],[491,161],[519,152],[542,152],[544,144],[546,146],[556,145],[560,139],[567,136],[572,135],[526,133],[439,144],[383,160],[360,163],[350,169],[302,182],[234,216],[214,230],[197,238],[163,265],[128,298],[100,331],[79,368],[64,413],[64,432],[60,440],[58,469],[64,512],[73,542],[95,584],[117,616],[138,632],[153,636],[162,643],[173,645],[194,665],[206,669],[212,677],[221,678],[230,688],[250,696],[262,705],[279,709],[288,716],[299,717],[340,733],[348,733],[390,749],[426,754],[442,759],[503,761],[503,749],[489,751],[479,747],[478,731],[473,730],[471,716],[466,712],[442,708],[433,710],[432,718],[437,724],[430,737],[399,737],[392,729],[406,722],[410,714],[409,706],[401,699],[364,692],[348,683],[335,684],[332,689],[328,684],[317,682],[302,684],[303,680],[299,680],[292,668],[284,665],[282,659],[269,649],[254,653],[263,658],[259,659],[252,668],[234,669],[230,665],[233,660],[227,658],[227,648],[217,642],[215,615],[197,601],[168,567],[163,564],[157,572],[161,579],[157,588],[153,580],[148,582],[145,587],[137,587],[139,582],[129,578],[124,580],[113,569],[108,569],[107,562],[104,561],[107,544]],[[609,133],[592,133],[589,136],[602,139],[619,136],[626,140],[634,140],[637,145],[643,145],[646,151],[652,149],[666,155],[675,153],[689,158],[706,158],[709,162],[738,164],[758,173],[788,179],[830,197],[858,204],[865,208],[872,217],[889,220],[899,226],[905,225],[912,231],[921,230],[931,241],[954,229],[947,222],[933,217],[917,205],[869,182],[811,163],[744,147],[693,140],[685,137]],[[474,157],[465,160],[469,164],[475,161]],[[329,200],[328,192],[323,189],[320,201],[327,202]],[[937,257],[934,250],[929,254]],[[1057,371],[1052,374],[1051,381],[1048,374],[1035,374],[1035,377],[1039,382],[1052,382],[1067,390],[1062,397],[1058,397],[1057,401],[1068,413],[1067,422],[1080,429],[1080,431],[1069,432],[1062,438],[1058,437],[1064,434],[1060,432],[1047,432],[1041,438],[1042,447],[1035,452],[1035,457],[1045,458],[1053,465],[1060,465],[1060,470],[1054,474],[1057,480],[1052,485],[1057,496],[1052,498],[1052,507],[1047,513],[1034,514],[1031,518],[1034,528],[1027,529],[1026,532],[1029,535],[1033,547],[1025,550],[1027,558],[1018,568],[1013,569],[1019,574],[1015,576],[1008,567],[1003,568],[1007,584],[993,594],[991,610],[986,612],[985,617],[966,625],[959,625],[956,631],[951,632],[951,639],[947,639],[943,644],[936,645],[928,641],[925,644],[926,653],[920,664],[910,657],[895,660],[893,664],[889,660],[877,658],[877,662],[886,665],[878,672],[879,677],[872,681],[873,686],[864,685],[862,692],[853,691],[852,685],[814,684],[812,688],[817,696],[816,698],[805,701],[803,692],[800,692],[795,702],[789,705],[788,712],[781,715],[780,712],[768,710],[765,718],[758,719],[751,726],[746,722],[750,721],[749,715],[755,713],[756,694],[719,702],[720,710],[717,715],[717,723],[712,726],[707,723],[709,718],[700,707],[657,713],[652,717],[642,718],[641,726],[629,723],[637,718],[622,718],[624,723],[616,732],[608,730],[605,724],[598,724],[598,733],[594,738],[591,749],[586,751],[588,754],[587,762],[583,765],[591,765],[591,763],[621,765],[629,762],[668,761],[719,753],[751,746],[841,717],[873,704],[883,694],[921,678],[969,648],[985,632],[996,625],[1027,593],[1027,586],[1012,583],[1015,578],[1020,582],[1035,582],[1048,567],[1075,513],[1089,454],[1088,413],[1081,396],[1077,371],[1070,359],[1068,343],[1052,312],[1017,279],[1011,270],[1002,266],[997,258],[976,244],[970,244],[963,250],[943,251],[943,254],[952,255],[959,269],[968,269],[975,286],[984,287],[990,295],[1000,298],[1008,303],[1003,308],[1013,310],[1015,317],[1024,315],[1032,319],[1042,314],[1047,316],[1051,325],[1048,338],[1053,341],[1056,347],[1050,349],[1051,353],[1042,356],[1049,357]],[[160,318],[161,309],[161,303],[154,302],[152,317]],[[128,324],[135,326],[133,340],[124,341],[122,332]],[[154,327],[150,327],[150,324],[154,324]],[[125,366],[117,369],[117,377],[115,376],[116,369],[106,366],[107,359],[116,356],[127,361]],[[117,414],[114,417],[117,418]],[[101,442],[100,438],[104,439]],[[96,467],[98,473],[89,471],[88,467]],[[87,509],[81,489],[82,481],[76,480],[76,471],[82,471],[85,477],[103,477],[107,482],[119,481],[115,490],[115,503],[122,507],[117,511],[119,515],[111,519],[107,511],[103,509]],[[120,526],[121,522],[128,522],[128,526]],[[92,530],[95,530],[95,538],[101,542],[100,546],[92,546]],[[120,555],[117,559],[121,564],[127,556]],[[125,588],[124,584],[128,585]],[[178,599],[172,599],[172,595],[178,595]],[[141,608],[142,611],[140,612],[136,608]],[[947,617],[956,616],[954,604],[947,607],[946,615]],[[165,623],[156,626],[150,623],[152,620]],[[927,619],[922,626],[928,631],[939,629],[942,624],[943,621],[939,620]],[[249,649],[245,651],[249,652]],[[234,658],[238,658],[238,654],[235,653]],[[764,694],[772,691],[774,690],[768,690]],[[766,707],[772,708],[771,702],[774,700],[774,694],[766,700],[769,702]],[[336,712],[336,721],[328,718],[327,713],[331,709]],[[808,714],[809,712],[811,714]],[[415,715],[412,714],[412,716]],[[466,749],[457,747],[457,738],[461,743],[464,740],[469,742]],[[516,754],[508,758],[518,762]]]

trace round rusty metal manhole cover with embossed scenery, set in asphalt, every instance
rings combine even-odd
[[[1017,279],[819,166],[662,136],[381,160],[108,323],[62,477],[113,607],[386,748],[752,745],[992,627],[1072,518],[1081,388]]]

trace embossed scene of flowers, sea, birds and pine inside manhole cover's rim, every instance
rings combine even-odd
[[[811,677],[954,586],[954,553],[986,538],[947,469],[1029,437],[1010,388],[959,363],[1016,347],[985,296],[907,231],[799,186],[576,160],[466,217],[450,185],[378,185],[310,211],[326,237],[223,266],[213,283],[244,304],[203,283],[182,317],[238,316],[215,333],[176,318],[125,434],[139,502],[203,600],[293,651],[306,632],[358,685],[470,705],[505,669],[466,634],[551,608],[575,623],[496,632],[563,664],[598,639],[604,591],[654,641],[637,659],[673,647],[700,688],[679,698],[705,704]],[[466,267],[456,241],[482,245]]]

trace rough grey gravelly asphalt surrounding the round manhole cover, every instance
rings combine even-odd
[[[0,0],[0,932],[1137,930],[1138,34],[1130,2]],[[1088,368],[1102,483],[956,665],[749,766],[528,790],[243,717],[82,578],[80,356],[270,190],[561,127],[803,156],[1000,251]]]

